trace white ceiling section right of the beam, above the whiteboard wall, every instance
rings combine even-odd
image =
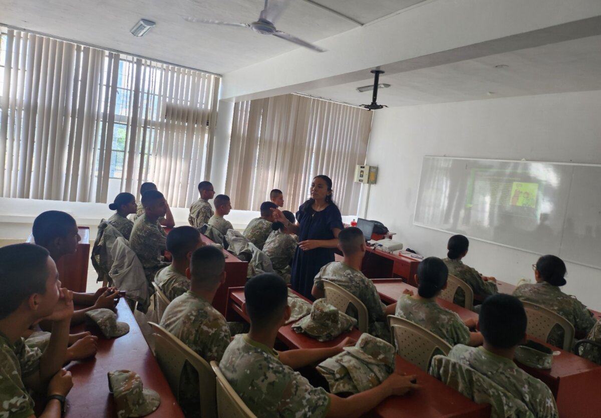
[[[496,68],[498,65],[507,67]],[[363,81],[302,91],[356,105],[370,103],[373,85],[366,71]],[[601,35],[520,49],[400,73],[385,73],[377,102],[388,106],[460,102],[496,97],[530,96],[601,90]]]

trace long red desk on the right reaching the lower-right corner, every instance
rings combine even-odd
[[[415,287],[402,283],[398,279],[374,280],[374,284],[380,297],[386,303],[397,301],[400,295],[403,294],[404,289],[412,289],[416,292]],[[438,303],[442,307],[457,313],[463,321],[469,318],[478,320],[478,314],[471,310],[440,298],[438,298]],[[592,418],[597,416],[598,411],[601,410],[601,397],[599,396],[601,366],[546,342],[533,340],[560,352],[559,355],[553,357],[553,366],[551,369],[532,369],[516,363],[517,366],[549,386],[555,401],[557,401],[560,417]]]

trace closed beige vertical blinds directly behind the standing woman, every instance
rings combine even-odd
[[[326,174],[343,215],[357,213],[372,112],[296,94],[234,106],[225,190],[234,207],[257,211],[269,192],[284,193],[285,207],[308,198],[311,180]]]

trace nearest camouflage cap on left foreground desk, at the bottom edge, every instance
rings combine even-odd
[[[130,370],[108,372],[109,391],[117,404],[117,418],[143,417],[160,405],[160,396],[152,389],[144,389],[138,373]]]

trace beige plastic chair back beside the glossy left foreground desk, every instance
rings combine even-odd
[[[209,363],[165,328],[154,322],[148,322],[148,324],[153,329],[156,360],[163,374],[165,374],[175,398],[179,401],[180,377],[187,362],[198,373],[201,416],[203,418],[216,418],[215,373],[213,373]]]

